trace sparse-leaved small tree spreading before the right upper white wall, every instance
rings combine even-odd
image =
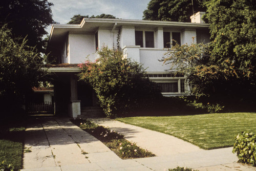
[[[162,61],[170,65],[170,71],[186,75],[191,93],[196,96],[209,95],[214,91],[212,81],[228,73],[221,66],[211,64],[208,45],[193,44],[172,46]]]

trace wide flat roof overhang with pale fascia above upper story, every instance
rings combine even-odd
[[[109,18],[83,18],[79,25],[53,24],[51,27],[49,44],[57,44],[70,34],[94,34],[98,28],[116,29],[121,27],[152,28],[158,27],[163,29],[207,29],[209,24],[201,23],[184,23],[184,22],[164,22],[152,20],[134,20],[134,19],[109,19]]]

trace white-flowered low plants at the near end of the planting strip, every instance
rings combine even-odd
[[[119,154],[123,158],[141,158],[155,156],[151,152],[148,152],[147,149],[142,149],[138,147],[135,143],[131,143],[129,141],[119,144]]]

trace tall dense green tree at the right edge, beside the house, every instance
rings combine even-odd
[[[211,86],[230,98],[253,97],[256,85],[256,5],[253,1],[210,1],[205,18],[210,24],[210,60],[231,75]],[[243,90],[243,91],[241,91]],[[253,100],[253,98],[248,101]]]

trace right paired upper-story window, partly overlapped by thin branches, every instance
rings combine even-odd
[[[170,32],[163,32],[163,47],[170,48],[170,40],[172,41],[173,46],[177,44],[181,45],[180,32],[172,32],[172,37]]]

